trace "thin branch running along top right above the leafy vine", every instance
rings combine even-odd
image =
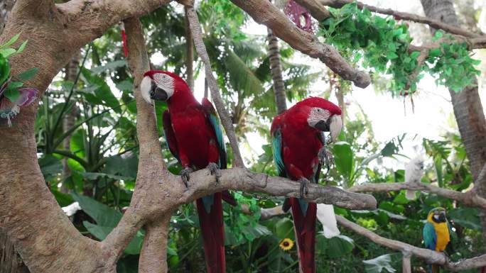
[[[320,1],[320,4],[322,4],[323,6],[332,6],[333,8],[337,8],[337,9],[341,8],[345,4],[352,3],[352,0],[318,0],[318,1]],[[372,12],[394,16],[398,20],[401,19],[406,21],[414,21],[417,23],[425,23],[431,26],[432,28],[441,29],[448,33],[452,33],[456,35],[462,35],[470,38],[475,38],[475,37],[480,37],[481,35],[485,35],[484,33],[477,34],[477,33],[470,32],[468,30],[463,30],[462,28],[458,28],[457,26],[451,26],[447,23],[443,23],[441,21],[435,20],[430,17],[418,16],[412,13],[394,11],[392,9],[381,9],[376,6],[369,6],[363,4],[362,2],[357,2],[357,6],[360,9],[366,8]]]

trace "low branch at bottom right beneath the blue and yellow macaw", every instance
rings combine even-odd
[[[407,243],[403,243],[397,240],[383,238],[382,236],[373,233],[371,230],[363,228],[361,225],[352,223],[342,216],[336,216],[336,220],[338,221],[339,225],[342,225],[343,227],[352,230],[355,233],[368,238],[369,240],[372,240],[378,245],[389,247],[392,250],[408,252],[411,255],[414,255],[415,257],[419,257],[421,260],[426,261],[427,263],[441,264],[444,268],[449,269],[453,272],[459,272],[463,270],[486,266],[486,255],[473,257],[471,259],[462,260],[460,262],[450,262],[448,260],[448,257],[446,257],[446,255],[443,255],[443,253],[441,252],[436,252],[421,247],[415,247],[414,245],[409,245]]]

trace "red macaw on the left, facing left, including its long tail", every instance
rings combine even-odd
[[[211,174],[215,174],[217,169],[226,169],[222,130],[210,101],[204,98],[200,104],[188,84],[171,72],[146,72],[140,88],[149,104],[152,99],[167,101],[168,111],[163,113],[163,129],[169,150],[184,168],[180,174],[186,186],[189,174],[194,169],[207,168]],[[236,204],[228,191],[196,201],[208,273],[226,271],[222,199],[229,204]]]

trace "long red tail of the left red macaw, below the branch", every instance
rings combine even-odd
[[[207,273],[225,273],[225,223],[222,218],[222,194],[215,194],[214,204],[207,213],[198,199],[198,216],[202,230],[202,245],[206,256]]]

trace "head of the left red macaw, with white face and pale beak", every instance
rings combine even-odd
[[[144,99],[152,104],[155,101],[167,101],[175,93],[190,91],[188,84],[178,75],[161,70],[145,72],[140,84],[140,90]]]

